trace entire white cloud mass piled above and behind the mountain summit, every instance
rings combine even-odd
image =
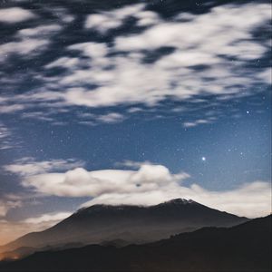
[[[77,168],[65,173],[44,173],[26,177],[22,184],[44,195],[92,197],[83,206],[96,203],[153,205],[183,198],[249,218],[271,211],[269,182],[255,181],[237,189],[214,191],[198,184],[182,185],[182,180],[189,178],[188,173],[172,174],[162,165],[137,165],[139,170],[87,171]]]

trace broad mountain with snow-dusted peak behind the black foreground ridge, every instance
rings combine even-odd
[[[93,205],[78,210],[52,228],[16,239],[1,247],[0,252],[22,247],[63,247],[70,243],[142,244],[197,228],[229,227],[247,220],[186,199],[150,207]]]

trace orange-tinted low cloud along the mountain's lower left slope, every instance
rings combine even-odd
[[[0,220],[0,245],[19,238],[30,231],[41,231],[50,228],[59,221],[68,218],[72,213],[60,211],[42,214],[38,217],[23,219],[21,221]]]

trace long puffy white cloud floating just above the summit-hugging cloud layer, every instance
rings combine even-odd
[[[25,187],[33,187],[47,195],[69,197],[97,197],[104,193],[136,192],[157,189],[170,180],[183,180],[188,174],[170,174],[161,165],[142,165],[140,170],[97,170],[87,171],[82,168],[66,173],[41,174],[26,177]]]

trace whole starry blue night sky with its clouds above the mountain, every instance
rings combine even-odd
[[[0,244],[94,203],[271,207],[267,1],[0,1]]]

